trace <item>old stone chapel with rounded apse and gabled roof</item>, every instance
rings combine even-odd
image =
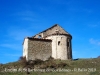
[[[26,60],[72,59],[72,36],[58,24],[32,36],[24,38],[23,57]]]

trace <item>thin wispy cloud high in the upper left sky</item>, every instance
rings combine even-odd
[[[30,10],[19,11],[11,14],[10,16],[14,17],[15,21],[37,22],[39,20],[37,13]]]

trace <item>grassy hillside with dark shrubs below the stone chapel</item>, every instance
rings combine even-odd
[[[19,69],[26,69],[19,71]],[[8,72],[9,69],[17,69],[16,72]],[[35,69],[34,71],[30,71]],[[38,70],[38,71],[37,71]],[[78,60],[54,60],[47,61],[36,59],[26,62],[21,59],[0,65],[0,75],[100,75],[100,58]]]

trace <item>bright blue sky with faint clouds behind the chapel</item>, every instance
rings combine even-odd
[[[24,38],[54,24],[72,35],[74,59],[100,55],[100,0],[0,0],[0,63],[19,60]]]

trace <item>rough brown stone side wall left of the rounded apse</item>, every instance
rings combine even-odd
[[[29,39],[28,41],[28,60],[47,60],[52,55],[51,40]]]

